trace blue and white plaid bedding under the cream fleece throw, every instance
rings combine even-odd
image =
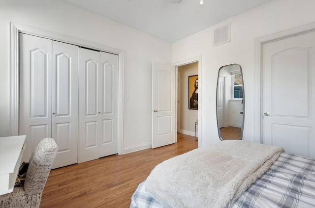
[[[192,199],[193,200],[193,199]],[[315,208],[315,159],[282,153],[232,208]],[[141,182],[130,208],[164,208]]]

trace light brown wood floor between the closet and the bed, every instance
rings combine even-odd
[[[108,156],[50,172],[40,208],[129,208],[132,193],[163,160],[198,147],[194,136],[121,156]]]

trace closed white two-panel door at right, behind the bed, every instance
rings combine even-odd
[[[263,45],[262,141],[315,158],[315,32]]]

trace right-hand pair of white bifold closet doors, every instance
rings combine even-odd
[[[118,55],[79,48],[78,162],[118,153]]]

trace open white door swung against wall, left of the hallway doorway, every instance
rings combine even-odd
[[[152,64],[152,148],[175,143],[175,66]]]

